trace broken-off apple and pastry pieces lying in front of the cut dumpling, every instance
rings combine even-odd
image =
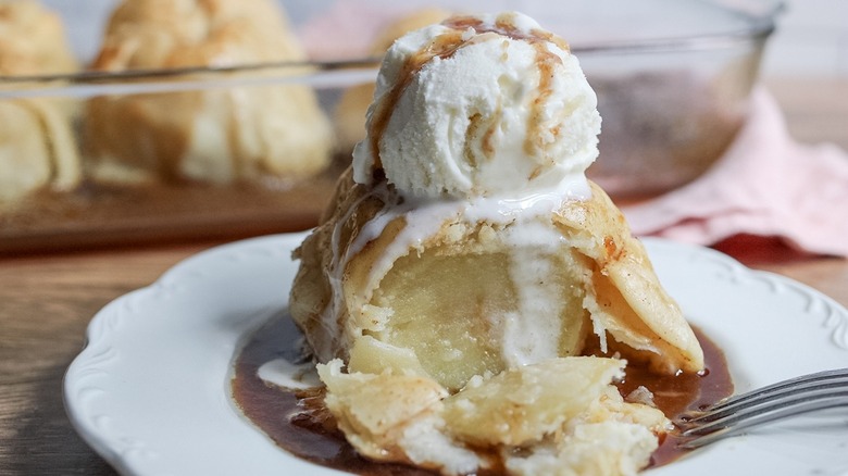
[[[448,394],[436,381],[386,369],[342,373],[319,365],[326,405],[361,454],[474,474],[502,467],[514,475],[635,474],[668,429],[659,410],[625,402],[610,383],[616,359],[551,359],[475,378]]]

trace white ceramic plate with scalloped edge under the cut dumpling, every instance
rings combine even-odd
[[[64,383],[83,438],[125,474],[335,474],[274,446],[229,399],[234,353],[285,309],[302,238],[200,253],[98,313]],[[646,245],[687,317],[724,349],[738,390],[848,365],[848,311],[827,297],[709,249]],[[650,474],[848,474],[848,413],[763,428]]]

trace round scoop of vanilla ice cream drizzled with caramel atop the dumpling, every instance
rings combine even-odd
[[[520,13],[453,17],[387,51],[354,180],[369,184],[382,170],[400,193],[420,198],[547,189],[583,178],[600,122],[562,39]]]

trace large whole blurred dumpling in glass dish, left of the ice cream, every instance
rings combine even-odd
[[[126,0],[113,12],[91,68],[303,60],[271,0]],[[323,171],[332,148],[315,92],[299,85],[98,97],[88,104],[85,130],[91,175],[112,183],[298,179]]]

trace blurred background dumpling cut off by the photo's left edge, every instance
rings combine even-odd
[[[0,76],[76,70],[59,15],[34,0],[0,2]],[[66,190],[79,183],[72,114],[64,99],[0,100],[0,208],[42,188]]]

